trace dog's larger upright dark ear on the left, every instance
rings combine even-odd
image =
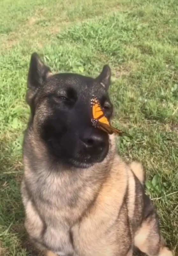
[[[48,76],[52,75],[48,68],[39,58],[39,55],[34,52],[30,60],[30,68],[28,71],[26,101],[29,105],[38,91],[43,86]]]

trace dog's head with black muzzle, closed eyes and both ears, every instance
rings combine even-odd
[[[32,54],[26,94],[31,125],[56,161],[87,168],[106,157],[109,136],[92,125],[91,99],[92,95],[98,98],[110,119],[110,76],[109,66],[95,79],[71,73],[52,75],[38,55]]]

